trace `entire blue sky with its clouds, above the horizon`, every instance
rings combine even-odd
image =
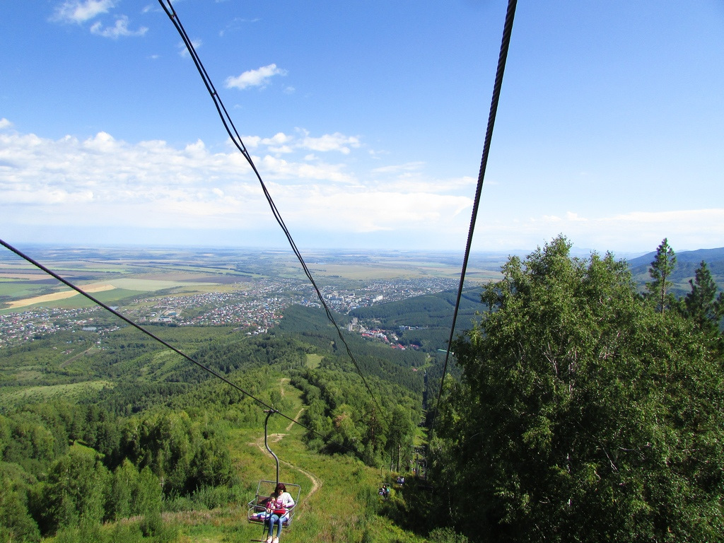
[[[304,248],[462,251],[505,1],[178,0]],[[156,1],[0,3],[0,237],[282,247]],[[724,246],[724,4],[519,1],[473,248]]]

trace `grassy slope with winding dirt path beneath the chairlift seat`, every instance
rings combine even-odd
[[[290,416],[303,409],[300,392],[282,379],[285,397],[292,400]],[[424,543],[426,539],[403,531],[377,515],[381,508],[376,489],[390,481],[389,472],[364,466],[347,456],[329,457],[310,452],[301,441],[305,430],[282,416],[269,421],[269,446],[279,456],[280,479],[302,488],[292,527],[282,533],[284,542],[379,542]],[[272,434],[281,434],[272,436]],[[246,502],[253,498],[261,479],[275,479],[276,464],[264,448],[264,428],[232,429],[229,433],[232,461],[246,488],[239,502],[209,511],[164,513],[167,523],[179,530],[179,542],[236,543],[261,538],[261,526],[246,520]],[[114,523],[104,526],[112,531]],[[55,538],[43,539],[55,543]]]

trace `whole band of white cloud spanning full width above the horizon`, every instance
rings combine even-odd
[[[310,153],[310,139],[315,145],[327,142],[318,146],[327,151],[348,146],[350,153]],[[305,130],[277,132],[245,141],[255,149],[255,164],[292,233],[314,232],[324,240],[395,232],[399,246],[416,240],[417,247],[435,247],[438,240],[437,247],[464,248],[472,177],[434,178],[421,163],[355,169],[366,153],[355,156],[350,138],[337,132],[329,138],[308,138]],[[280,148],[292,152],[271,151]],[[162,140],[128,143],[107,132],[50,140],[0,131],[0,195],[4,231],[23,232],[31,225],[53,231],[277,228],[243,156],[235,149],[215,151],[202,140],[177,147]],[[653,251],[663,237],[677,251],[720,247],[724,209],[603,214],[563,209],[544,215],[488,199],[473,243],[479,249],[530,249],[561,232],[577,247],[600,251]]]

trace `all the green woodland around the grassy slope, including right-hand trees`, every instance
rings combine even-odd
[[[645,282],[570,249],[557,237],[465,292],[439,405],[451,292],[336,316],[408,327],[400,339],[419,347],[342,332],[353,360],[319,309],[287,308],[251,337],[159,327],[248,394],[127,328],[102,348],[79,331],[0,350],[0,539],[182,540],[164,515],[239,507],[255,484],[232,458],[232,436],[264,426],[253,395],[298,410],[302,448],[345,476],[407,476],[389,500],[355,489],[348,535],[318,526],[321,541],[374,541],[373,518],[408,534],[390,542],[722,541],[724,295],[711,270],[699,261],[684,292],[666,240]],[[14,392],[30,384],[64,394]]]

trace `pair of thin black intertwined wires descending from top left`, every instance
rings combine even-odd
[[[327,319],[334,324],[334,328],[337,329],[337,335],[340,337],[340,340],[345,345],[345,349],[347,350],[347,355],[350,357],[350,360],[355,366],[355,369],[357,370],[357,373],[362,378],[362,382],[364,383],[364,386],[367,389],[367,392],[369,392],[369,395],[371,396],[372,400],[374,401],[377,408],[382,411],[382,408],[380,407],[379,403],[377,403],[376,397],[374,396],[374,393],[372,392],[372,389],[370,388],[369,384],[367,383],[367,379],[365,379],[364,375],[362,374],[362,370],[360,369],[360,366],[357,363],[357,360],[352,354],[352,351],[350,350],[350,346],[347,344],[347,341],[345,340],[344,336],[342,335],[342,330],[340,329],[339,325],[337,324],[337,321],[334,320],[334,316],[332,316],[332,311],[329,309],[329,306],[327,306],[327,302],[324,300],[324,296],[321,295],[321,291],[319,290],[319,287],[317,287],[316,282],[314,281],[314,278],[312,277],[311,271],[309,271],[306,262],[304,261],[304,258],[302,256],[302,253],[297,248],[296,243],[294,243],[294,240],[292,239],[292,235],[287,229],[287,225],[284,222],[284,219],[282,219],[282,215],[279,213],[279,209],[277,209],[277,205],[274,203],[274,200],[271,198],[271,194],[269,193],[269,190],[267,190],[266,185],[264,185],[264,181],[261,179],[261,174],[258,172],[258,169],[256,169],[256,164],[254,164],[253,159],[251,158],[251,155],[246,150],[246,146],[244,145],[244,142],[241,139],[241,136],[239,135],[239,132],[236,130],[236,127],[234,125],[234,122],[232,122],[232,119],[227,112],[226,107],[224,106],[224,103],[222,102],[221,97],[219,97],[219,93],[216,93],[216,88],[214,88],[214,83],[211,82],[211,77],[209,77],[209,74],[206,72],[206,68],[203,67],[203,64],[201,63],[201,59],[199,58],[198,54],[196,53],[196,50],[193,46],[193,43],[191,42],[191,39],[188,37],[188,34],[186,33],[185,28],[183,28],[183,25],[181,24],[181,20],[176,13],[176,10],[171,4],[171,0],[159,0],[159,4],[161,4],[161,7],[164,9],[164,12],[169,16],[169,19],[173,22],[174,28],[176,28],[177,32],[181,36],[181,39],[183,43],[186,46],[186,49],[188,49],[189,54],[191,55],[191,58],[193,59],[193,63],[196,66],[196,70],[198,70],[199,75],[201,75],[201,79],[203,80],[203,84],[206,86],[206,90],[209,91],[209,95],[211,96],[211,99],[214,101],[214,106],[216,106],[216,111],[219,113],[219,118],[222,120],[222,124],[224,125],[224,129],[226,129],[227,134],[231,138],[232,142],[236,146],[236,148],[242,153],[246,161],[251,166],[251,169],[253,170],[254,174],[256,175],[256,179],[259,182],[259,185],[261,185],[261,190],[264,191],[264,196],[266,198],[266,201],[269,203],[269,207],[271,208],[271,213],[274,214],[274,219],[277,220],[277,223],[279,224],[279,227],[282,228],[282,231],[284,232],[285,236],[287,237],[287,240],[289,241],[289,244],[292,248],[292,251],[294,252],[295,256],[297,257],[299,264],[302,266],[302,269],[304,271],[304,274],[306,275],[307,279],[309,279],[309,282],[311,282],[311,285],[314,287],[314,290],[316,292],[317,298],[319,298],[319,301],[321,302],[322,307],[324,307],[324,311],[327,313]]]

